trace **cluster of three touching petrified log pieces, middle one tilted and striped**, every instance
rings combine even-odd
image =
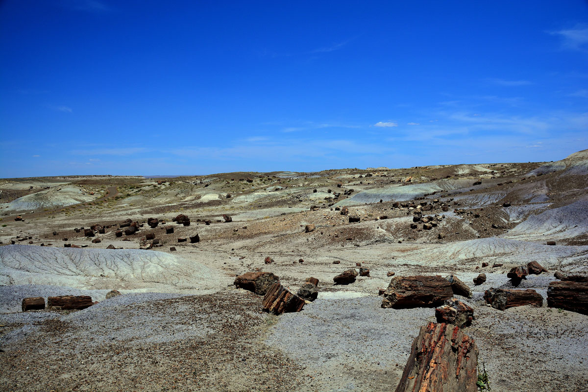
[[[235,287],[249,290],[263,296],[262,309],[273,314],[300,311],[306,301],[318,296],[316,286],[319,280],[309,277],[295,294],[280,283],[279,277],[271,272],[246,272],[235,278]]]

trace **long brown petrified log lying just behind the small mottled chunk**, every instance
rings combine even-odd
[[[434,307],[453,297],[451,283],[442,276],[396,276],[383,294],[382,307]]]

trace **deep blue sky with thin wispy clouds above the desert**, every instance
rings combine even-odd
[[[0,3],[0,177],[588,148],[588,3]]]

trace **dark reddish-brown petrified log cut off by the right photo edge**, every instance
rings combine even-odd
[[[547,306],[588,314],[588,282],[551,282]]]

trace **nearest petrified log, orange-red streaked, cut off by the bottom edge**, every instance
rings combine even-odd
[[[459,327],[420,327],[396,392],[476,392],[476,342]]]

